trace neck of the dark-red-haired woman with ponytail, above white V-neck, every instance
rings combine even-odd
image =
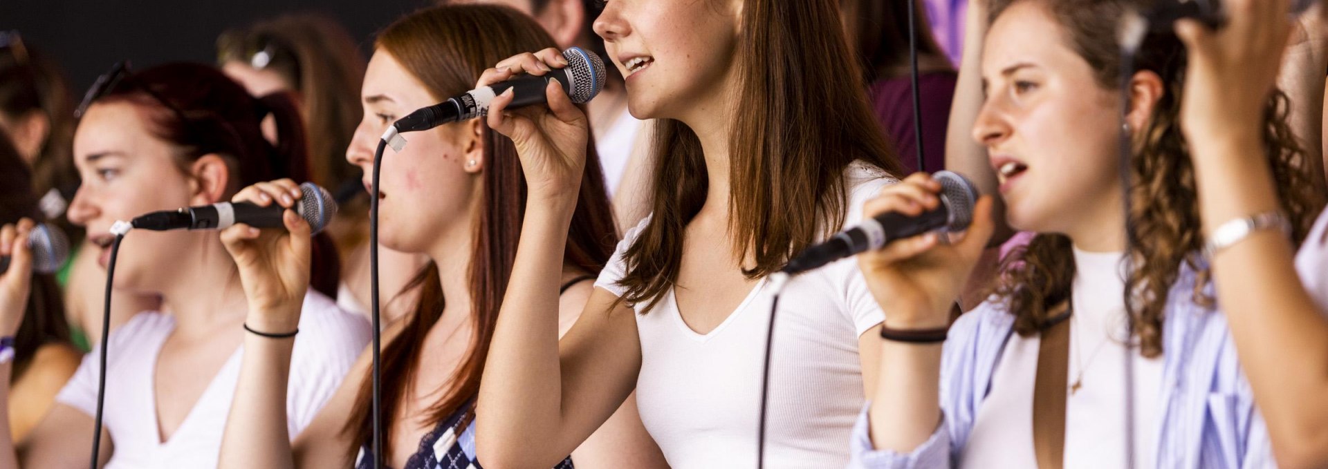
[[[175,317],[175,333],[185,337],[214,335],[223,327],[239,327],[248,310],[235,261],[216,233],[189,233],[201,238],[195,256],[182,260],[179,281],[162,289],[162,309]]]

